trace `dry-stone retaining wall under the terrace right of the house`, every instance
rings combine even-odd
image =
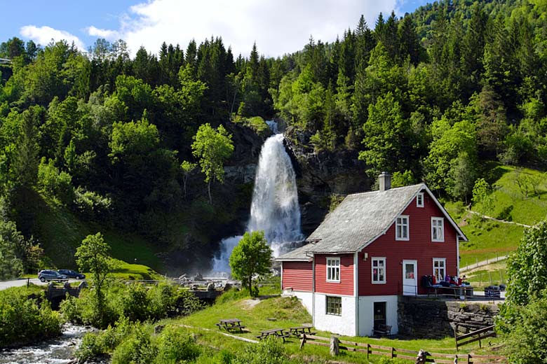
[[[471,332],[494,324],[496,304],[472,301],[441,301],[400,296],[399,334],[421,338],[442,338]]]

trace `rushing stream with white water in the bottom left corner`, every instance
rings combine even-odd
[[[18,349],[0,350],[0,364],[63,364],[76,363],[74,351],[83,335],[90,331],[78,325],[66,324],[62,335]],[[100,362],[94,362],[100,364]]]

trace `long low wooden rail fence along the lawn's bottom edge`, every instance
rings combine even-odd
[[[320,337],[316,335],[301,335],[302,340],[300,342],[300,349],[304,347],[305,344],[318,345],[330,347],[331,339],[327,337]],[[399,358],[405,360],[416,360],[418,351],[408,350],[408,349],[398,349],[390,346],[380,346],[367,344],[363,342],[351,342],[349,340],[337,340],[339,342],[340,350],[347,351],[356,351],[360,353],[365,353],[367,359],[370,355],[382,355],[388,356],[389,358]],[[462,364],[499,364],[507,363],[507,358],[505,356],[494,356],[494,355],[475,355],[473,353],[469,354],[447,354],[447,353],[431,353],[428,352],[426,361],[428,363],[454,363],[454,359],[457,358],[457,363]]]

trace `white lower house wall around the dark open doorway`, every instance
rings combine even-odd
[[[386,325],[391,325],[391,334],[398,332],[398,296],[359,297],[359,336],[371,336],[374,328],[374,302],[386,302]]]

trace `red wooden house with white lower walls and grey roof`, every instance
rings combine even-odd
[[[424,183],[347,196],[306,240],[278,258],[281,288],[299,297],[319,330],[367,336],[398,331],[398,297],[426,293],[419,277],[459,275],[466,236]]]

